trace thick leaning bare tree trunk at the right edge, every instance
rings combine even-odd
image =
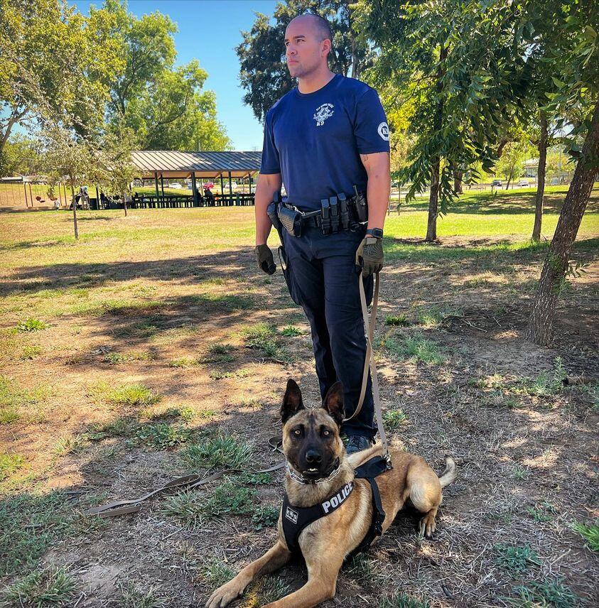
[[[551,342],[553,320],[558,295],[568,270],[568,258],[581,225],[590,191],[598,172],[599,158],[599,102],[595,104],[593,119],[578,160],[566,200],[561,207],[554,238],[549,246],[525,338],[546,346]]]

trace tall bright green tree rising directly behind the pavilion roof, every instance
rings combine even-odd
[[[124,60],[110,83],[110,127],[134,131],[149,150],[230,148],[216,96],[203,90],[207,72],[197,60],[175,67],[175,23],[158,11],[138,18],[123,0],[106,0],[102,10],[114,17],[112,34]]]

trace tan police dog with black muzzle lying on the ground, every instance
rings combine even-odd
[[[322,408],[305,408],[298,385],[292,379],[288,380],[281,406],[288,503],[295,507],[322,504],[325,513],[332,503],[338,508],[310,523],[297,537],[308,567],[306,585],[264,608],[311,608],[333,598],[343,561],[369,531],[372,491],[367,479],[355,479],[354,469],[381,455],[382,450],[380,445],[374,445],[348,457],[340,438],[343,418],[340,382],[330,388]],[[423,515],[421,534],[431,538],[443,498],[441,489],[456,477],[453,459],[446,458],[446,469],[441,477],[437,477],[421,457],[401,450],[391,450],[391,462],[392,469],[376,478],[385,512],[382,531],[389,528],[409,499]],[[252,580],[274,572],[288,562],[291,550],[286,543],[282,517],[281,509],[279,539],[274,547],[215,590],[207,600],[206,608],[224,608],[242,595]]]

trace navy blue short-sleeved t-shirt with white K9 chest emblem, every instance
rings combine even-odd
[[[313,93],[294,88],[266,114],[260,173],[281,173],[288,202],[320,209],[320,199],[353,186],[366,191],[360,154],[389,152],[389,126],[377,92],[336,74]]]

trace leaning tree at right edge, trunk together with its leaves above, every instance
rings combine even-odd
[[[599,45],[598,19],[593,1],[524,3],[524,23],[534,32],[531,43],[542,38],[547,61],[554,66],[555,93],[547,95],[548,109],[566,114],[568,107],[583,108],[580,124],[571,133],[570,152],[576,170],[563,202],[554,238],[541,271],[534,296],[527,340],[549,344],[553,334],[556,303],[572,272],[570,254],[599,169]],[[583,136],[582,148],[574,138]]]

